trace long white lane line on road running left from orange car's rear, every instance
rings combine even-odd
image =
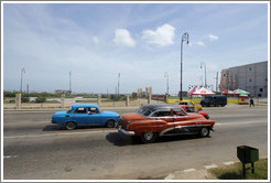
[[[63,133],[46,133],[46,134],[32,134],[32,136],[8,136],[4,139],[21,139],[21,138],[37,138],[37,137],[52,137],[52,136],[71,136],[71,134],[91,134],[100,132],[117,132],[117,130],[99,130],[99,131],[84,131],[84,132],[63,132]]]

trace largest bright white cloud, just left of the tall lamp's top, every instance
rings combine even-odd
[[[174,43],[175,28],[170,24],[163,24],[155,31],[145,30],[143,31],[142,39],[149,43],[159,46],[167,46]]]

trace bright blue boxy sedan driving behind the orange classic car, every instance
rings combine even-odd
[[[52,117],[52,123],[63,125],[68,130],[78,126],[97,125],[113,128],[119,119],[119,114],[106,111],[97,105],[73,105],[67,111],[56,111]]]

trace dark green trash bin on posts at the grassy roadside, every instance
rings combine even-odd
[[[242,175],[246,176],[246,170],[254,173],[254,162],[259,160],[259,150],[248,146],[237,147],[237,158],[242,163]],[[251,168],[246,169],[246,164],[251,163]]]

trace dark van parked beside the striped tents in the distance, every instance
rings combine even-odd
[[[224,95],[205,96],[204,99],[202,99],[200,105],[203,107],[209,107],[209,106],[224,107],[227,105],[227,96],[224,96]]]

